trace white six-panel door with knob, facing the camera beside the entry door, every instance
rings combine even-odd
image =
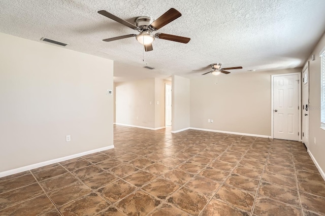
[[[299,140],[299,77],[273,77],[273,138]]]

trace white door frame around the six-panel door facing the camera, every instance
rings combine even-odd
[[[289,76],[289,75],[298,75],[298,106],[299,106],[299,110],[298,110],[298,132],[299,132],[299,136],[298,136],[298,141],[301,141],[301,86],[302,86],[302,82],[301,82],[301,72],[297,72],[297,73],[289,73],[289,74],[275,74],[275,75],[271,75],[271,138],[273,139],[274,134],[273,134],[273,123],[274,123],[274,113],[273,113],[273,79],[274,77],[282,77],[282,76]]]

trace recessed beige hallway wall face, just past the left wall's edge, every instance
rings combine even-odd
[[[116,124],[154,128],[155,79],[115,83],[115,86]]]

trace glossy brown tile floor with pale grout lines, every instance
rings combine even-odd
[[[301,142],[116,126],[115,149],[0,178],[0,215],[325,215]]]

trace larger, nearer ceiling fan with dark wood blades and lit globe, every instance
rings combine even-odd
[[[182,14],[179,13],[174,8],[169,9],[165,14],[161,15],[160,17],[158,17],[158,19],[156,19],[153,22],[151,22],[152,20],[150,17],[146,17],[146,16],[137,17],[135,20],[135,25],[104,10],[99,11],[98,13],[140,32],[139,34],[127,34],[115,38],[104,39],[103,41],[106,42],[116,41],[124,38],[136,37],[136,39],[141,44],[144,45],[144,49],[147,52],[153,50],[151,43],[154,41],[155,38],[164,39],[168,41],[175,41],[184,44],[187,44],[190,40],[190,38],[185,38],[185,37],[172,35],[172,34],[165,34],[159,32],[152,34],[153,31],[158,30],[159,28],[167,25],[168,23],[182,16]]]

